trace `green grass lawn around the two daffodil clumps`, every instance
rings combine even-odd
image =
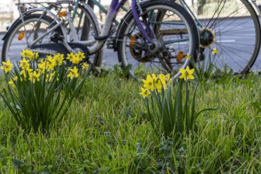
[[[201,84],[194,133],[179,142],[157,137],[144,119],[142,83],[88,78],[62,122],[26,134],[1,102],[0,173],[12,158],[53,173],[261,173],[261,77]],[[5,87],[3,79],[1,88]]]

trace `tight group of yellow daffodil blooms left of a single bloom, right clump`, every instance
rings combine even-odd
[[[146,79],[142,79],[142,81],[144,82],[144,85],[141,87],[141,93],[139,94],[141,94],[143,98],[146,98],[153,91],[161,93],[162,89],[166,89],[172,82],[172,79],[170,78],[170,74],[152,74],[152,76],[148,75]]]

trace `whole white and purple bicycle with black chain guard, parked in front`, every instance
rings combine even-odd
[[[99,32],[99,23],[91,8],[84,1],[76,1],[78,4],[75,4],[74,8],[84,7],[86,17],[89,17],[88,20],[92,21],[92,29],[96,28],[93,39],[87,41],[78,39],[76,28],[71,20],[73,9],[69,9],[64,15],[65,17],[62,18],[58,18],[57,14],[51,12],[52,9],[58,9],[58,12],[60,12],[58,3],[49,3],[47,8],[27,10],[15,25],[12,25],[9,33],[5,36],[3,49],[10,53],[10,43],[15,34],[19,37],[21,32],[24,32],[27,48],[40,54],[55,54],[56,52],[67,54],[82,50],[87,55],[92,55],[102,48],[107,39],[111,38],[117,45],[119,61],[122,62],[124,67],[130,64],[133,69],[139,67],[135,62],[128,62],[126,55],[126,47],[128,47],[131,55],[135,57],[132,61],[136,61],[138,64],[140,62],[145,63],[146,68],[152,69],[152,72],[172,72],[173,69],[184,68],[190,63],[187,59],[177,61],[174,48],[196,57],[199,44],[196,25],[190,14],[181,6],[171,1],[139,2],[135,0],[131,4],[132,10],[124,16],[117,31],[111,30],[116,14],[125,2],[126,0],[113,0],[111,2],[104,27]],[[21,4],[18,5],[21,6]],[[43,14],[34,14],[34,12],[43,12]],[[30,27],[26,28],[25,25],[28,23]],[[39,25],[39,23],[43,24],[39,28],[45,29],[40,33],[34,31],[35,25]],[[67,37],[65,23],[70,27],[71,36],[69,38],[73,39],[72,42]],[[19,31],[21,28],[24,31]],[[31,36],[32,32],[37,33],[37,37],[32,37],[32,41],[29,41],[26,35]],[[115,33],[115,36],[113,36],[113,33]],[[48,43],[49,41],[54,43]],[[87,48],[87,46],[90,47]],[[6,49],[6,47],[9,49]],[[6,53],[3,54],[3,58],[8,58],[8,56]],[[131,74],[134,76],[133,71],[131,71]],[[177,76],[179,74],[176,74],[175,77]]]

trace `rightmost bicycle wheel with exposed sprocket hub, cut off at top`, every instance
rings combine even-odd
[[[221,71],[244,74],[251,69],[260,50],[260,21],[247,0],[200,0],[194,4],[201,25],[201,52],[216,47],[213,64]]]

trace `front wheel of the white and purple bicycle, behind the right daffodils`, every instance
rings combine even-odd
[[[131,65],[135,75],[144,67],[146,73],[170,73],[179,76],[179,68],[189,65],[185,55],[196,58],[198,32],[190,14],[177,3],[147,1],[141,3],[142,19],[150,23],[155,33],[152,47],[135,24],[133,14],[128,13],[120,25],[117,39],[118,57],[124,67]]]

